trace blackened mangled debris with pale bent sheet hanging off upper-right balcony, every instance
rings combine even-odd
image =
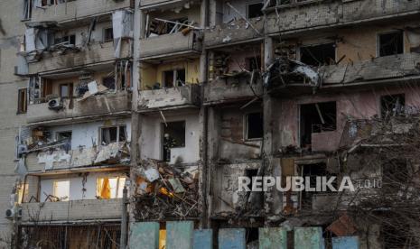
[[[276,58],[266,70],[264,84],[273,88],[285,87],[291,83],[317,88],[321,84],[321,78],[315,69],[300,61]]]

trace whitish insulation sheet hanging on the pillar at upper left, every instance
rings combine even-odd
[[[121,57],[121,42],[123,38],[132,37],[133,14],[126,10],[117,10],[112,13],[112,30],[114,35],[114,50],[116,58]]]

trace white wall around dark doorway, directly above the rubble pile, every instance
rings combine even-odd
[[[200,160],[201,125],[198,112],[177,115],[163,112],[166,122],[185,121],[185,147],[173,148],[171,154],[182,157],[182,162],[196,162]],[[142,159],[163,160],[163,118],[161,115],[144,116],[140,150]],[[173,152],[176,150],[176,152]]]

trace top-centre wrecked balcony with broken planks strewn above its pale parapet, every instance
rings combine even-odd
[[[166,15],[173,16],[168,12],[147,14],[150,21],[145,27],[144,38],[140,40],[140,60],[160,62],[180,57],[198,58],[202,41],[200,8],[192,5],[182,9],[171,20],[165,20]]]

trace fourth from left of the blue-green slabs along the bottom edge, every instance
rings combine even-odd
[[[245,249],[245,228],[226,228],[219,230],[219,249]]]

